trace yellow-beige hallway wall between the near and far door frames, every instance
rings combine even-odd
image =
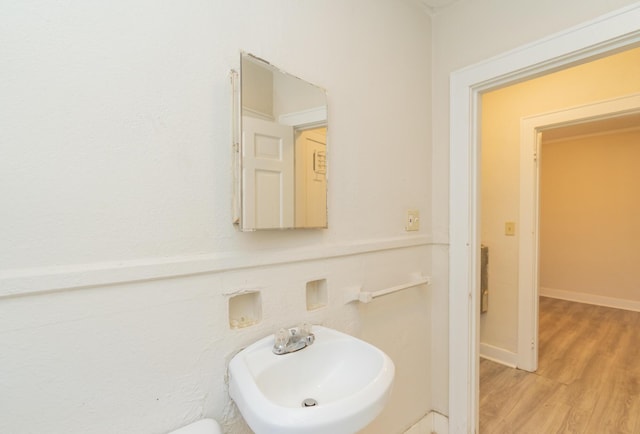
[[[482,97],[481,238],[489,246],[484,344],[517,351],[520,119],[640,92],[640,49],[600,59]],[[504,223],[516,222],[516,236]]]

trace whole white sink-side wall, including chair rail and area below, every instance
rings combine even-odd
[[[245,432],[228,359],[303,319],[396,362],[366,432],[432,408],[429,291],[341,301],[431,272],[431,25],[414,2],[27,0],[0,20],[0,432],[161,433],[202,416]],[[230,223],[241,49],[328,90],[329,230]],[[307,312],[319,278],[329,304]],[[231,330],[229,294],[246,288],[263,320]]]

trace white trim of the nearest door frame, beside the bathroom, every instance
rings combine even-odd
[[[478,430],[479,96],[640,43],[640,3],[453,72],[450,81],[449,428]]]

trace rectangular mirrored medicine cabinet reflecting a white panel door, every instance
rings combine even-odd
[[[241,53],[234,88],[236,192],[242,231],[327,227],[324,89]]]

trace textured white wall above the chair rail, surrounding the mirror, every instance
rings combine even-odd
[[[429,227],[430,24],[412,2],[30,0],[2,15],[3,267],[251,248],[228,224],[240,49],[329,94],[332,230],[260,248],[405,235],[407,206]]]

